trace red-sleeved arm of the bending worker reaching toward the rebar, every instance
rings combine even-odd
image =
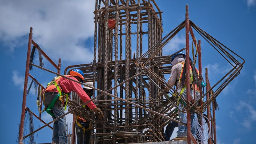
[[[79,95],[79,97],[82,99],[83,102],[87,102],[87,101],[91,100],[90,97],[82,89],[82,87],[79,83],[76,83],[74,81],[71,81],[71,83],[72,83],[74,91]],[[94,110],[96,107],[92,101],[87,103],[86,105],[88,107],[90,107],[90,109],[92,109],[92,110]]]

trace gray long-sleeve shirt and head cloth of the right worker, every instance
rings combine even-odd
[[[175,57],[175,58],[173,59],[173,61],[172,61],[173,67],[171,68],[171,75],[170,75],[170,77],[169,77],[169,79],[168,79],[168,81],[167,81],[167,83],[168,83],[171,87],[173,87],[173,86],[175,85],[176,80],[178,80],[178,79],[179,79],[179,76],[181,75],[182,63],[180,63],[180,62],[185,62],[185,59],[182,58],[182,57],[183,57],[183,56],[181,56],[181,57],[177,56],[177,57]],[[176,86],[177,86],[176,90],[179,92],[179,91],[182,89],[180,83],[177,82],[177,83],[176,83]],[[165,90],[166,90],[166,91],[169,91],[170,89],[168,89],[168,88],[166,87]]]

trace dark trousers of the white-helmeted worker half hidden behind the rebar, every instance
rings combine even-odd
[[[82,122],[82,121],[78,121],[78,122],[81,123],[81,125],[83,127],[85,127],[86,129],[89,127],[89,122]],[[89,144],[90,143],[91,130],[84,132],[80,126],[75,124],[75,131],[77,134],[77,144]]]

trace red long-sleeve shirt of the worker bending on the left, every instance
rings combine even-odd
[[[72,76],[67,76],[67,77],[77,81],[75,77],[72,77]],[[76,83],[74,81],[61,77],[59,81],[59,86],[63,93],[69,93],[71,91],[75,91],[79,95],[79,97],[82,99],[83,102],[87,102],[91,100],[90,97],[82,89],[79,83]],[[53,92],[53,90],[47,90],[47,89],[46,91]],[[55,92],[58,93],[58,90],[56,89]],[[90,109],[92,110],[94,110],[94,108],[96,107],[92,101],[87,103],[86,105],[90,107]]]

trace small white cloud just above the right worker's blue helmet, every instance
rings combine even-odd
[[[163,48],[164,52],[175,52],[177,50],[180,50],[184,47],[182,45],[185,45],[186,39],[183,35],[180,37],[176,35],[173,37]]]

